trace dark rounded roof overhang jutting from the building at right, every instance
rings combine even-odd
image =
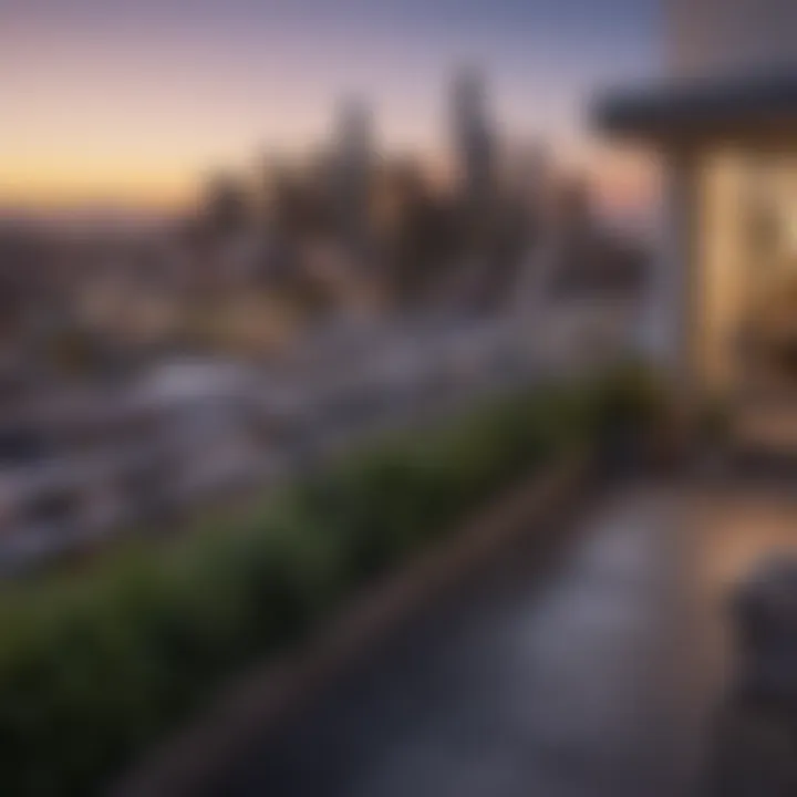
[[[658,143],[783,139],[797,145],[797,72],[766,79],[651,86],[599,100],[597,126]]]

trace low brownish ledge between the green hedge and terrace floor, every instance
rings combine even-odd
[[[483,513],[355,596],[335,620],[224,690],[190,727],[167,741],[112,788],[112,797],[190,797],[381,639],[429,601],[478,572],[514,542],[571,506],[590,475],[579,453],[516,486]]]

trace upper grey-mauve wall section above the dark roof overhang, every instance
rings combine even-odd
[[[797,69],[797,0],[664,0],[676,77]]]

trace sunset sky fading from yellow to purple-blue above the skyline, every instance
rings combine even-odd
[[[508,135],[632,196],[587,112],[659,72],[659,2],[1,0],[0,205],[179,205],[213,169],[322,142],[345,96],[383,148],[434,157],[462,63]]]

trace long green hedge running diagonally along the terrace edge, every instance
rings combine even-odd
[[[0,794],[101,793],[253,661],[596,422],[539,389],[385,439],[266,506],[0,603]],[[592,403],[594,405],[594,402]]]

